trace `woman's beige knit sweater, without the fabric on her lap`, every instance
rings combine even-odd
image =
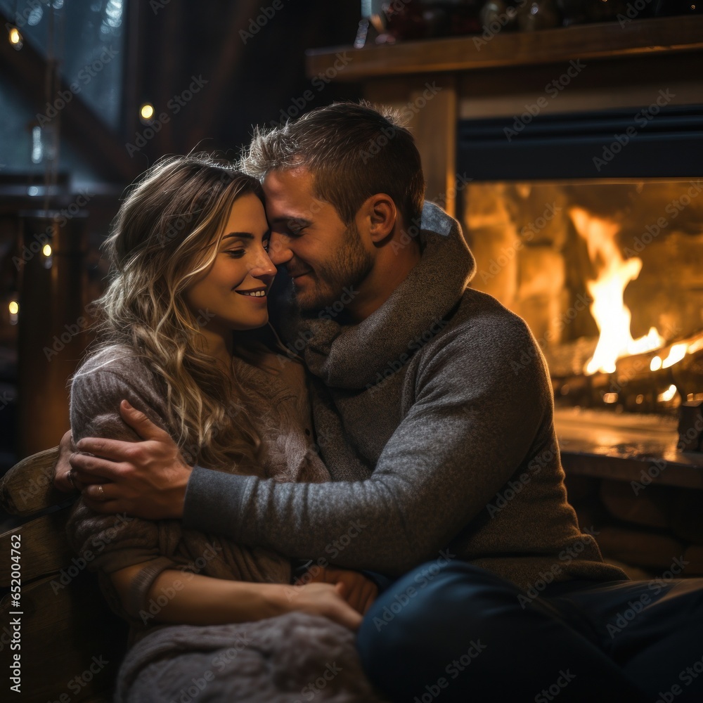
[[[235,360],[235,370],[252,397],[244,401],[262,437],[260,477],[277,481],[329,479],[312,450],[311,419],[304,371],[299,363],[274,363],[277,375]],[[136,441],[138,437],[119,414],[127,399],[163,429],[167,427],[165,387],[146,359],[126,346],[113,346],[91,356],[76,373],[71,387],[71,427],[74,439],[108,437]],[[235,472],[236,467],[231,467]],[[290,560],[273,550],[240,546],[227,538],[183,529],[179,520],[151,522],[125,515],[98,515],[77,501],[68,523],[72,546],[92,569],[112,607],[127,619],[110,579],[105,575],[136,564],[144,568],[134,581],[131,606],[141,618],[134,625],[153,623],[157,604],[146,595],[165,569],[205,574],[219,579],[290,583]]]

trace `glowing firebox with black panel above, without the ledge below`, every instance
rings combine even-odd
[[[557,406],[702,404],[702,124],[703,107],[656,102],[460,122],[473,285],[527,321]]]

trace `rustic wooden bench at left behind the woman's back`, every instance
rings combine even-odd
[[[108,703],[127,624],[109,609],[96,576],[68,545],[65,525],[75,496],[53,488],[57,456],[58,447],[34,454],[0,480],[0,507],[11,516],[0,534],[3,690],[13,683],[6,672],[20,654],[18,700]],[[17,564],[19,607],[11,588]],[[19,621],[18,635],[13,621]]]

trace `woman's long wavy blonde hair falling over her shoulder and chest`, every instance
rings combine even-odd
[[[257,179],[207,154],[158,161],[112,223],[103,245],[112,276],[93,306],[99,348],[127,344],[162,378],[169,428],[186,460],[251,471],[260,438],[243,411],[245,389],[202,351],[207,311],[194,314],[183,297],[217,257],[233,202],[245,193],[263,200]],[[238,336],[236,349],[251,363],[273,333]]]

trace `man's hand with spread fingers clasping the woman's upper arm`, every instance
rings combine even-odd
[[[70,463],[96,512],[127,512],[147,520],[183,517],[192,467],[169,434],[126,400],[120,415],[144,441],[84,437]],[[90,456],[93,455],[93,456]]]

